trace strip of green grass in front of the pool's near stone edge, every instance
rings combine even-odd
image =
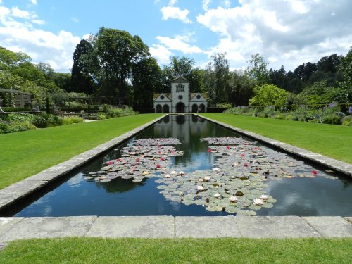
[[[352,239],[30,239],[0,263],[351,263]]]

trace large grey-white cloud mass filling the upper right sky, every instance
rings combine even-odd
[[[220,37],[218,45],[208,49],[208,55],[226,51],[234,67],[259,53],[272,68],[285,65],[291,70],[322,56],[346,54],[351,46],[349,0],[239,3],[234,8],[208,9],[196,18]]]

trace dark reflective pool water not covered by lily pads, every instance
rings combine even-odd
[[[170,115],[138,134],[134,139],[174,137],[182,144],[177,150],[184,156],[172,158],[171,167],[185,172],[213,168],[213,155],[207,153],[203,137],[239,137],[230,130],[196,116]],[[132,144],[133,139],[122,146]],[[57,187],[46,188],[46,193],[34,195],[27,204],[18,204],[2,215],[15,216],[68,216],[68,215],[228,215],[208,212],[202,206],[185,206],[168,201],[156,187],[156,178],[132,182],[120,178],[111,182],[92,182],[83,179],[89,172],[101,169],[101,164],[119,158],[115,149],[84,168],[66,177]],[[314,167],[315,170],[325,168]],[[339,176],[337,180],[325,177],[267,181],[265,192],[277,199],[273,208],[257,210],[257,215],[352,215],[352,179]],[[27,207],[25,207],[27,206]]]

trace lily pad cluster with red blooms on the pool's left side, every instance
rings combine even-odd
[[[153,139],[158,142],[158,139]],[[163,142],[161,140],[161,142]],[[177,142],[169,140],[168,142]],[[133,179],[142,182],[145,178],[156,177],[168,170],[170,156],[182,156],[182,151],[164,144],[149,144],[146,146],[127,146],[121,150],[122,157],[103,163],[98,172],[89,172],[85,180],[109,182],[117,177]]]

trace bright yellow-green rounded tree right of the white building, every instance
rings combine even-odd
[[[250,106],[283,106],[287,91],[273,84],[254,87],[254,96],[249,100]]]

